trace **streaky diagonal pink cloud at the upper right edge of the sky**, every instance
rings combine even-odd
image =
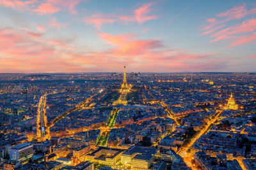
[[[256,8],[248,10],[246,4],[236,6],[230,10],[219,13],[216,16],[218,18],[209,18],[206,21],[208,24],[201,27],[201,35],[211,34],[211,41],[225,41],[228,43],[228,47],[242,45],[253,41],[253,32],[256,31],[256,20],[254,18],[244,20],[241,23],[232,24],[229,27],[225,27],[230,20],[237,20],[248,15],[256,13]]]

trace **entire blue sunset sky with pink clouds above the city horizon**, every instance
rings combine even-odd
[[[256,1],[0,0],[0,73],[256,71]]]

